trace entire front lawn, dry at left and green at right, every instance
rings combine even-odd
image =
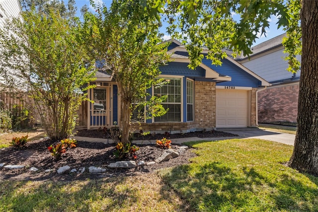
[[[0,211],[318,211],[318,178],[283,165],[292,146],[198,141],[192,163],[139,176],[0,182]]]

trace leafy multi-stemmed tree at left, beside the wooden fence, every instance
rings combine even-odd
[[[31,4],[0,29],[0,75],[6,87],[28,89],[52,140],[72,133],[85,98],[81,90],[94,79],[79,18],[59,8]]]

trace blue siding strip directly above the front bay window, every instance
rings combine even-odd
[[[205,70],[197,67],[195,70],[188,68],[188,63],[169,62],[166,66],[159,67],[161,74],[184,75],[189,77],[204,77]]]

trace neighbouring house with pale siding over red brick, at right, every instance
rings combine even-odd
[[[279,35],[251,48],[248,57],[236,60],[244,67],[261,76],[271,86],[258,92],[258,122],[260,123],[296,123],[298,112],[298,93],[300,73],[287,71],[288,62],[283,58],[284,46]],[[300,61],[301,56],[296,56]]]

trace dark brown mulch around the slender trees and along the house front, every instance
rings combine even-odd
[[[94,137],[97,138],[105,138],[105,132],[102,131],[79,131],[77,136],[85,136],[85,137]],[[99,134],[99,133],[102,134]],[[206,138],[209,137],[228,137],[235,136],[233,134],[225,134],[223,132],[214,131],[211,135],[208,132],[201,132],[202,134],[207,135]],[[90,136],[89,136],[90,135]],[[196,134],[183,134],[188,135],[188,137],[198,137],[199,133]],[[190,136],[191,135],[191,136]],[[192,136],[196,135],[196,136]],[[151,135],[149,135],[151,136]],[[153,135],[155,136],[155,135]],[[156,137],[157,136],[157,137]],[[156,134],[155,139],[161,139],[164,135]],[[174,135],[170,135],[170,138],[174,137]],[[179,137],[180,138],[180,137]],[[184,138],[184,137],[181,137]],[[201,137],[202,138],[202,137]],[[204,137],[203,137],[204,138]],[[146,138],[144,138],[146,140]],[[147,138],[148,139],[148,138]],[[171,138],[172,139],[172,138]],[[172,141],[173,142],[173,141]],[[116,177],[116,176],[129,176],[129,175],[139,175],[143,173],[153,172],[160,168],[172,167],[182,164],[189,163],[189,159],[194,157],[195,154],[191,149],[187,149],[184,154],[172,158],[168,161],[162,163],[156,163],[148,166],[139,166],[136,168],[124,169],[124,168],[108,168],[107,165],[112,162],[118,161],[117,158],[113,155],[113,150],[115,149],[115,144],[107,144],[107,143],[98,143],[98,142],[87,142],[87,141],[79,141],[78,146],[73,149],[69,149],[62,157],[62,159],[56,161],[51,153],[48,151],[47,147],[51,144],[55,144],[55,142],[51,140],[35,140],[29,141],[26,144],[25,148],[17,149],[15,147],[8,147],[0,149],[0,163],[4,163],[4,165],[12,164],[12,165],[24,165],[25,167],[22,169],[5,169],[3,167],[0,168],[0,180],[10,179],[10,180],[85,180],[85,179],[100,179],[100,178],[108,178],[108,177]],[[165,150],[160,149],[155,144],[138,144],[140,150],[137,151],[138,158],[136,159],[136,163],[139,161],[150,162],[154,161],[158,158]],[[172,149],[178,148],[178,145],[172,143]],[[127,160],[132,159],[128,158]],[[71,169],[84,167],[85,171],[82,174],[77,172],[66,172],[63,174],[58,174],[57,169],[62,166],[68,165]],[[88,167],[95,166],[105,168],[106,171],[102,173],[89,173]],[[32,172],[29,171],[30,167],[36,167],[39,170]],[[50,172],[45,172],[47,169],[53,169]]]

